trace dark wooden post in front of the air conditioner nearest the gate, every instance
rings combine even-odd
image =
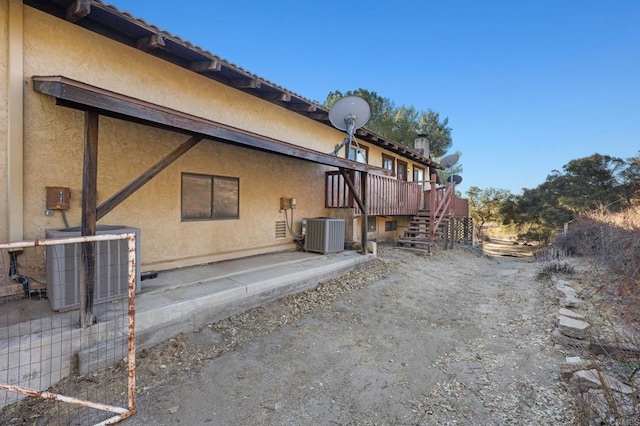
[[[96,235],[96,200],[98,191],[98,112],[88,110],[84,116],[84,159],[82,172],[82,236]],[[86,328],[95,322],[93,289],[95,284],[95,242],[81,244],[80,321]]]

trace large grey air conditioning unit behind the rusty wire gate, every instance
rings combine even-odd
[[[128,226],[98,225],[96,235],[136,234],[136,293],[141,290],[140,229]],[[47,238],[79,237],[80,228],[47,229]],[[81,244],[56,244],[46,247],[47,298],[55,311],[80,306]],[[93,303],[126,298],[128,294],[129,250],[127,240],[95,242]]]

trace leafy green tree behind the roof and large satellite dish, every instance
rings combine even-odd
[[[413,106],[396,107],[390,99],[362,88],[345,93],[339,90],[331,92],[324,106],[331,108],[343,96],[353,95],[366,99],[371,106],[371,118],[365,126],[367,129],[410,148],[414,147],[418,135],[424,134],[429,139],[431,156],[434,158],[441,158],[451,147],[453,140],[449,118],[441,120],[440,113],[432,110],[422,112]]]

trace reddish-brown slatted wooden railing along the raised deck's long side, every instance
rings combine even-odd
[[[354,187],[360,187],[360,173],[349,172]],[[340,172],[327,172],[325,182],[327,208],[352,208],[354,215],[361,211]],[[414,215],[420,208],[422,186],[386,176],[367,175],[367,200],[371,216]]]

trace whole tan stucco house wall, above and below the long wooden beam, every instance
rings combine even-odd
[[[6,15],[3,3],[0,6],[2,22],[6,21]],[[4,57],[8,45],[5,27],[0,32],[3,37],[0,55]],[[52,97],[35,92],[31,87],[33,76],[63,75],[321,152],[331,152],[344,138],[343,132],[329,126],[26,6],[24,40],[27,83],[24,91],[24,236],[27,239],[43,238],[46,229],[64,227],[60,212],[55,212],[53,217],[44,214],[47,186],[71,188],[71,205],[66,215],[70,226],[80,224],[84,149],[83,112],[56,106]],[[0,61],[0,73],[4,75],[7,72],[5,64],[6,61]],[[2,136],[6,128],[6,118],[3,118],[7,110],[6,90],[0,90],[0,102]],[[5,125],[2,125],[3,119]],[[187,138],[101,117],[98,204]],[[369,163],[380,166],[382,152],[379,147],[369,146]],[[0,177],[4,177],[6,144],[0,148],[0,166]],[[300,230],[302,218],[335,216],[335,210],[324,208],[324,172],[330,169],[203,140],[107,214],[99,224],[141,228],[143,270],[162,270],[289,249],[295,247],[291,235],[287,233],[284,240],[276,239],[275,235],[276,222],[285,220],[279,211],[280,197],[297,199],[293,219],[296,232]],[[182,222],[183,172],[239,178],[240,218]],[[0,189],[1,197],[6,198],[6,185]],[[4,210],[0,210],[0,221],[0,232],[3,233],[0,236],[3,236],[7,224]],[[384,230],[384,222],[381,226],[378,229]],[[357,222],[350,229],[358,239]],[[379,232],[370,237],[377,234]]]

